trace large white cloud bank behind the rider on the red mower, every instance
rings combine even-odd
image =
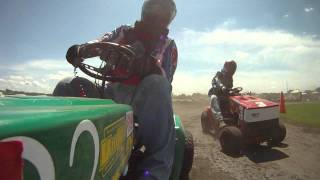
[[[234,84],[246,91],[284,91],[285,82],[292,89],[320,86],[316,78],[320,41],[314,36],[280,30],[226,29],[222,25],[211,31],[183,29],[176,42],[179,65],[173,82],[175,94],[207,93],[212,76],[230,59],[238,63]]]

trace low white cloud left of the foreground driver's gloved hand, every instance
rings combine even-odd
[[[10,75],[0,77],[0,89],[51,93],[57,82],[73,75],[71,65],[62,60],[31,60],[0,67]]]

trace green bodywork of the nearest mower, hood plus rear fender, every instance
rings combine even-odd
[[[184,155],[185,135],[178,116],[175,123],[177,141],[170,179],[179,179]],[[112,100],[0,98],[0,141],[23,142],[26,180],[118,179],[131,154],[132,130],[131,106]],[[40,163],[35,163],[39,159]]]

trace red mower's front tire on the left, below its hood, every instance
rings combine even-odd
[[[226,126],[219,132],[219,141],[224,153],[239,155],[243,147],[243,135],[239,128]]]

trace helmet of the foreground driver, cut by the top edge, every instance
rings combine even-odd
[[[142,6],[141,21],[162,20],[167,27],[176,16],[173,0],[145,0]]]

